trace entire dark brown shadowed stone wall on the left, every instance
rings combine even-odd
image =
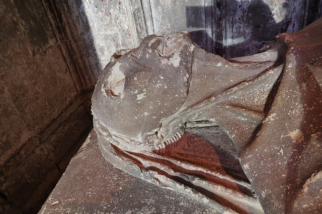
[[[1,213],[37,212],[92,129],[99,64],[82,12],[81,1],[0,3]]]

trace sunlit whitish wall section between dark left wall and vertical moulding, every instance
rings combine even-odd
[[[133,7],[132,2],[135,4]],[[140,4],[140,1],[129,0],[95,3],[91,0],[83,1],[101,69],[108,64],[116,51],[132,49],[139,45],[141,41],[138,39],[142,37],[137,36],[137,30],[143,31],[143,38],[146,36],[144,27],[136,28],[133,18],[135,14],[138,17],[142,15],[142,11],[136,8]]]

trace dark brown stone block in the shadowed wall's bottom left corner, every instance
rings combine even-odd
[[[37,148],[12,174],[6,177],[0,191],[21,211],[28,212],[38,203],[59,174],[56,165]],[[24,189],[24,191],[22,191]]]

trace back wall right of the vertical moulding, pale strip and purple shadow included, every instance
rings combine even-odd
[[[154,34],[192,32],[200,47],[224,58],[252,55],[322,15],[321,1],[165,0],[150,1],[150,8]]]

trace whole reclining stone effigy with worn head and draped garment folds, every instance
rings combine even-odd
[[[147,36],[112,56],[92,112],[115,167],[218,212],[322,210],[322,19],[229,60]]]

